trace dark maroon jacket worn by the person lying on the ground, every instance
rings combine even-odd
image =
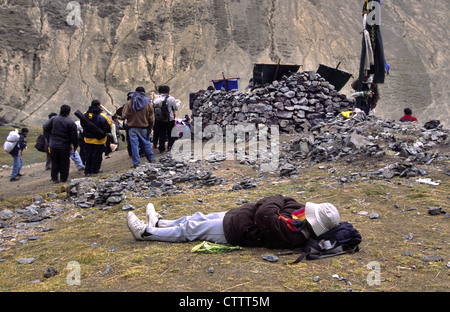
[[[291,218],[292,212],[303,208],[294,199],[274,195],[245,204],[225,214],[223,227],[227,242],[232,245],[266,248],[300,248],[306,245],[303,232],[291,231],[280,218]],[[306,231],[306,230],[305,230]]]

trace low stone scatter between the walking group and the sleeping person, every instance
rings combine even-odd
[[[80,208],[105,208],[123,202],[127,196],[150,198],[184,193],[184,182],[189,182],[191,188],[201,188],[224,181],[205,168],[205,162],[174,160],[169,153],[158,163],[147,163],[97,182],[91,178],[73,179],[67,184],[67,193]]]

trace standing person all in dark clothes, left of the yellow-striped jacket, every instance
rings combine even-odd
[[[53,183],[67,182],[70,170],[70,152],[78,148],[77,125],[69,117],[71,107],[62,105],[59,115],[50,118],[43,126],[50,148]]]

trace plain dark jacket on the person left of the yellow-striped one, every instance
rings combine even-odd
[[[71,145],[74,148],[78,147],[77,125],[69,116],[52,117],[42,128],[51,148],[70,149]]]

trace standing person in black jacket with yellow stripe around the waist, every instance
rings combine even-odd
[[[91,106],[84,113],[84,116],[91,120],[95,125],[104,131],[105,134],[95,133],[92,128],[83,127],[85,151],[85,169],[84,174],[91,176],[101,172],[103,153],[105,151],[106,134],[111,133],[111,121],[102,113],[102,105],[99,100],[93,100]]]

